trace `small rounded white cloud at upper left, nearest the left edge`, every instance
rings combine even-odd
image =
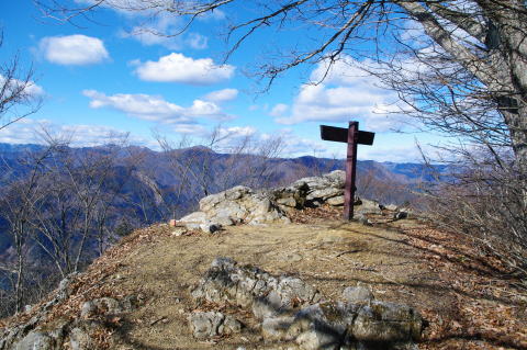
[[[38,47],[48,61],[58,65],[91,65],[110,57],[101,39],[80,34],[47,36]]]

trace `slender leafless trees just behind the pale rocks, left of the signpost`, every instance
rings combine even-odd
[[[158,194],[171,217],[192,210],[201,197],[234,185],[268,188],[276,176],[273,159],[283,149],[281,137],[256,139],[254,135],[237,135],[221,125],[195,142],[183,137],[172,143],[159,134],[155,137],[177,180],[170,196],[154,183],[149,188]]]

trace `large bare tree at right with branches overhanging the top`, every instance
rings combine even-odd
[[[277,52],[255,60],[254,71],[270,84],[289,69],[319,64],[325,68],[323,80],[336,65],[359,63],[399,94],[403,103],[391,111],[415,116],[425,129],[459,140],[444,150],[455,156],[457,166],[472,168],[466,171],[470,177],[452,182],[460,190],[450,193],[479,208],[500,203],[496,199],[507,203],[507,210],[493,215],[461,211],[467,222],[485,232],[484,217],[489,223],[491,217],[502,224],[517,221],[518,226],[505,225],[508,232],[502,238],[525,242],[527,3],[523,0],[99,0],[77,8],[63,0],[35,1],[45,15],[61,21],[89,16],[100,8],[179,16],[187,20],[181,32],[213,11],[236,12],[226,27],[226,59],[257,33],[272,37],[302,31],[296,41],[271,45]],[[239,8],[246,11],[235,11]],[[461,191],[463,187],[470,191]],[[514,213],[507,214],[509,210]],[[480,219],[469,219],[475,216]],[[523,251],[516,257],[525,262]]]

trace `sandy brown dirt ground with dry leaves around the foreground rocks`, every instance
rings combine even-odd
[[[291,225],[236,226],[216,235],[173,235],[168,225],[134,233],[82,275],[69,305],[77,317],[90,297],[139,295],[138,307],[110,320],[117,349],[289,349],[265,345],[246,311],[197,305],[189,287],[216,257],[273,274],[298,275],[327,298],[363,284],[375,298],[410,304],[425,318],[419,349],[527,349],[527,297],[505,279],[498,261],[473,255],[464,237],[416,219],[365,226],[307,213]],[[247,326],[233,337],[197,341],[187,316],[221,309]],[[115,347],[113,347],[115,348]]]

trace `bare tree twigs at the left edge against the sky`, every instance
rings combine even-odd
[[[0,47],[2,44],[3,32],[0,31]],[[21,67],[19,55],[0,64],[0,131],[38,111],[41,94],[33,69]]]

